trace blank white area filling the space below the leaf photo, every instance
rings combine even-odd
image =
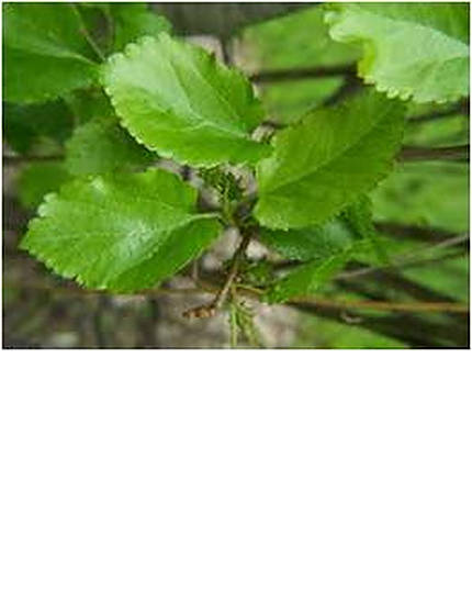
[[[2,615],[470,615],[468,351],[3,351]]]

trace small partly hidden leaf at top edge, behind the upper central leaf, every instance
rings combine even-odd
[[[162,15],[147,8],[145,2],[113,2],[110,13],[114,20],[113,49],[121,52],[124,47],[142,36],[158,36],[171,31],[171,25]]]

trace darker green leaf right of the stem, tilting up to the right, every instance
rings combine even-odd
[[[404,103],[367,91],[277,133],[257,168],[256,217],[284,230],[333,217],[391,171],[404,122]]]

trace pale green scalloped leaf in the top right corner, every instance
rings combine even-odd
[[[468,96],[468,3],[339,2],[329,4],[326,20],[335,41],[362,44],[359,74],[389,97]]]

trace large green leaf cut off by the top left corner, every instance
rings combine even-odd
[[[42,102],[98,77],[82,24],[68,3],[3,4],[3,98]]]

